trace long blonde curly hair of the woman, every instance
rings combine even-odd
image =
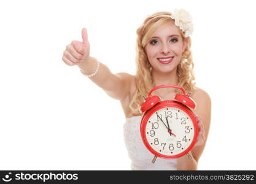
[[[157,12],[149,15],[142,25],[137,29],[137,42],[136,42],[136,90],[134,96],[130,102],[130,108],[134,115],[141,114],[139,112],[139,106],[144,101],[143,96],[147,96],[149,91],[154,87],[152,73],[150,69],[150,63],[145,53],[145,45],[149,42],[153,34],[160,28],[163,28],[166,24],[173,21],[170,12]],[[180,29],[179,29],[180,30]],[[185,39],[184,33],[180,30],[182,40]],[[182,53],[182,59],[177,66],[177,85],[182,86],[188,94],[192,94],[196,90],[195,76],[193,72],[193,61],[191,39],[188,40],[187,48]],[[180,90],[176,89],[177,94],[181,93]]]

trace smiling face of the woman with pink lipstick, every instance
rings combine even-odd
[[[171,72],[177,68],[187,40],[182,40],[174,21],[158,30],[145,45],[145,52],[153,71]]]

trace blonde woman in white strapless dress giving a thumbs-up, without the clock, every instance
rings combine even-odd
[[[63,61],[77,65],[82,74],[96,83],[109,96],[120,100],[125,113],[125,144],[133,170],[196,170],[203,153],[211,121],[211,98],[195,85],[190,35],[193,32],[191,17],[185,10],[157,12],[147,17],[138,28],[136,44],[136,75],[112,74],[109,68],[90,56],[87,30],[82,29],[83,42],[72,41],[64,50]],[[145,148],[139,131],[142,114],[139,105],[149,91],[158,85],[182,86],[195,100],[200,136],[190,154],[178,159],[158,158]],[[163,99],[180,93],[174,88],[154,91]]]

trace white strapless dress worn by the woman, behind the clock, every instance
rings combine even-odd
[[[142,142],[140,125],[142,116],[126,118],[123,125],[123,136],[132,170],[177,170],[177,159],[157,158],[151,163],[154,155],[147,150]]]

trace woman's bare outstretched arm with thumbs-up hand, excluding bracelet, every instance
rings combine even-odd
[[[93,74],[98,66],[96,58],[90,56],[90,44],[87,30],[82,29],[83,42],[72,41],[63,53],[63,61],[69,66],[77,65],[85,75]],[[114,99],[122,100],[130,91],[131,75],[126,73],[112,74],[109,68],[99,62],[98,72],[89,78]]]

